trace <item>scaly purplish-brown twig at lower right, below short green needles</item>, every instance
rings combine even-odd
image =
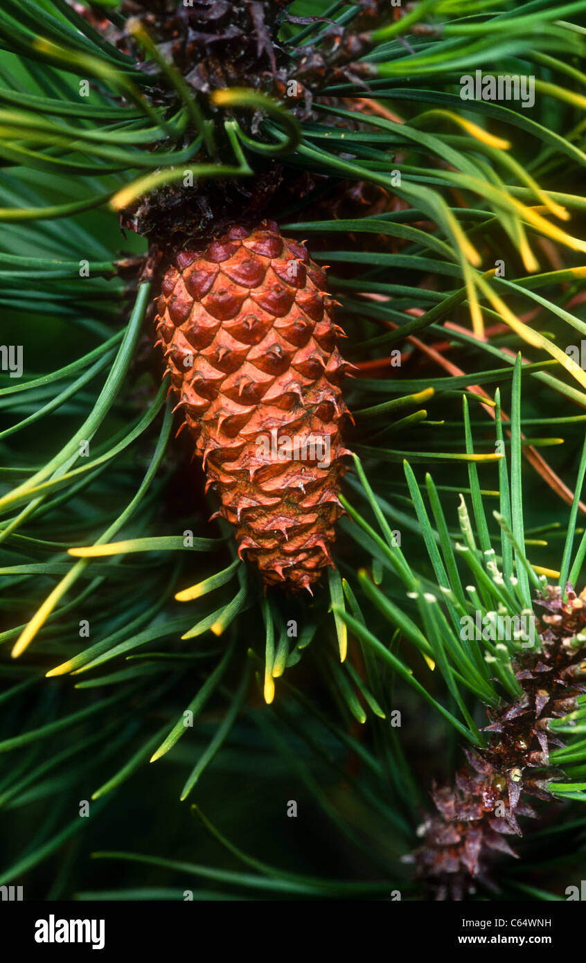
[[[567,585],[566,593],[564,600],[559,586],[546,586],[537,600],[547,611],[538,624],[541,651],[513,664],[523,694],[487,711],[488,746],[466,753],[469,767],[457,773],[454,787],[434,786],[439,815],[422,823],[423,845],[405,859],[415,864],[428,897],[465,899],[478,882],[497,890],[495,857],[517,856],[505,837],[522,835],[518,817],[537,815],[525,795],[552,799],[549,749],[564,742],[548,725],[577,709],[586,691],[586,590],[576,595]]]

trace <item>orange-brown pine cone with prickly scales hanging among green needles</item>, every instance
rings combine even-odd
[[[332,564],[350,454],[340,426],[351,366],[325,288],[307,248],[263,221],[181,250],[157,300],[167,371],[218,514],[265,584],[293,590],[311,591]]]

